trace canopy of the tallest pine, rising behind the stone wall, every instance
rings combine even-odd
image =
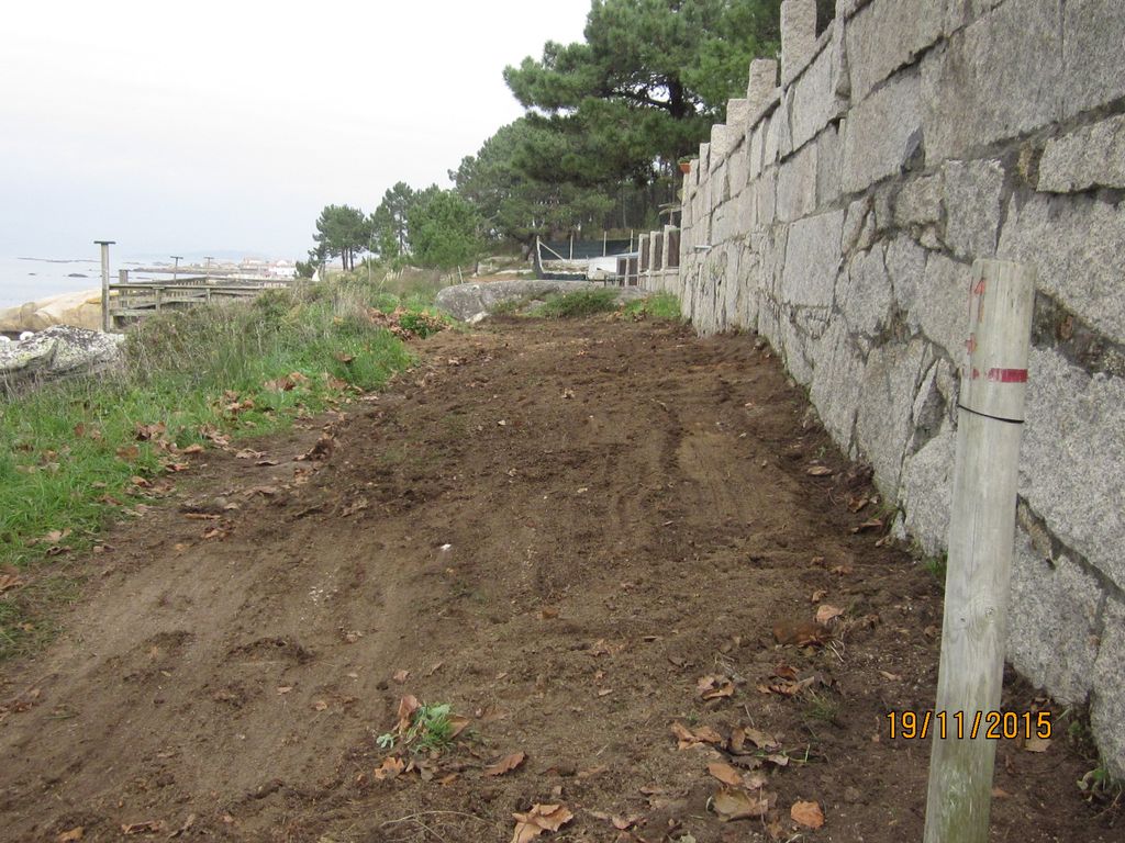
[[[708,137],[776,53],[780,0],[594,0],[584,43],[548,42],[504,80],[541,132],[520,169],[542,181],[646,183]]]

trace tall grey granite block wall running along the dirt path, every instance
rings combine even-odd
[[[943,552],[973,259],[1037,272],[1010,652],[1125,774],[1125,13],[1119,0],[785,0],[777,64],[684,179],[650,283],[757,330]],[[778,85],[780,81],[780,85]]]

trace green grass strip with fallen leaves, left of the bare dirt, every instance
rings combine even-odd
[[[43,641],[51,605],[75,593],[69,555],[153,504],[145,483],[190,465],[180,451],[282,429],[407,366],[367,318],[387,294],[341,281],[155,316],[120,371],[0,396],[0,573],[25,582],[0,593],[0,659]]]

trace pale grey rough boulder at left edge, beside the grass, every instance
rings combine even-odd
[[[120,362],[120,334],[54,325],[28,339],[0,343],[0,387],[98,372]]]

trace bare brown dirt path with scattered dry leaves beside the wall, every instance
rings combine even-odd
[[[574,814],[542,840],[920,837],[928,743],[885,714],[934,698],[940,593],[855,532],[872,491],[767,352],[605,319],[422,348],[323,428],[207,454],[86,563],[62,638],[6,665],[0,839],[507,841],[533,804]],[[776,644],[822,605],[828,645]],[[405,695],[470,728],[379,779]],[[1065,743],[1000,745],[993,840],[1122,839]],[[720,822],[709,763],[764,817]]]

